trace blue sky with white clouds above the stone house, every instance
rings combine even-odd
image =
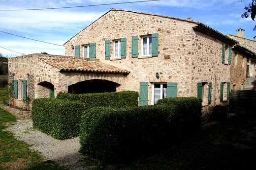
[[[0,9],[32,9],[81,6],[136,0],[0,0]],[[0,11],[0,31],[63,45],[76,33],[94,22],[111,7],[160,14],[177,18],[191,17],[224,34],[236,35],[245,29],[245,38],[253,39],[254,22],[241,18],[244,6],[252,0],[160,0],[131,4],[68,8],[40,11]],[[0,32],[0,47],[24,54],[47,52],[64,55],[64,47],[40,43]],[[21,54],[0,48],[4,56]]]

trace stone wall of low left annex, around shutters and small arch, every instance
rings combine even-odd
[[[59,70],[46,64],[35,56],[36,54],[31,54],[8,58],[9,72],[14,73],[14,79],[18,80],[18,99],[14,99],[14,106],[18,106],[24,109],[31,108],[31,102],[21,98],[21,80],[27,80],[28,88],[29,75],[34,76],[34,98],[40,98],[46,95],[49,96],[49,91],[44,91],[47,94],[42,94],[43,91],[41,90],[41,86],[38,85],[39,83],[46,81],[52,83],[53,85],[59,85]],[[28,90],[27,96],[30,96]]]

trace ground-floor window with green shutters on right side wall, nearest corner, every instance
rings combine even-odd
[[[211,82],[197,83],[197,97],[202,100],[202,103],[211,104],[211,102],[212,102],[212,83]]]

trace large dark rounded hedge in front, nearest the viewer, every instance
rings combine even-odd
[[[86,110],[80,151],[107,162],[126,162],[170,147],[200,129],[201,102],[175,100],[178,104]]]

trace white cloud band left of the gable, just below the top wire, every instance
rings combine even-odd
[[[23,32],[30,30],[72,30],[98,19],[103,13],[79,11],[15,11],[0,12],[1,29]]]

